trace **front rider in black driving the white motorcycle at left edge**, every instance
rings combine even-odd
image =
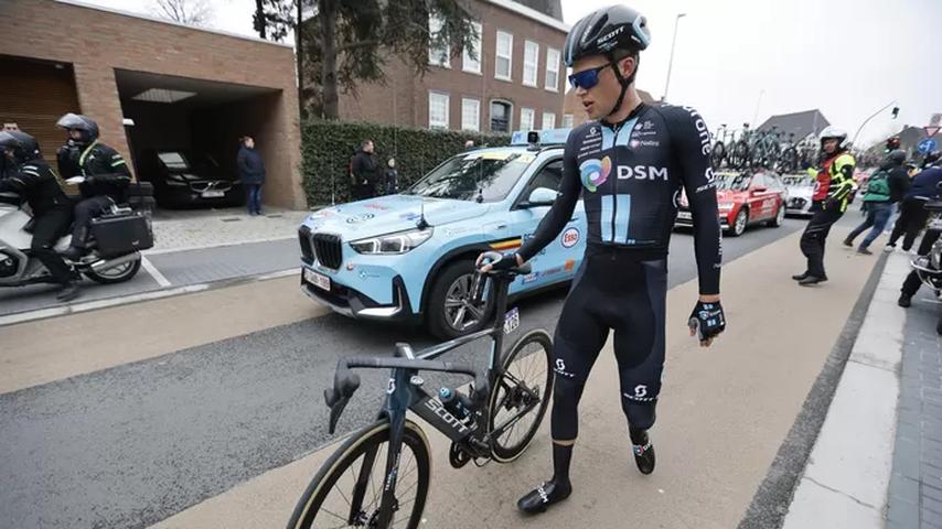
[[[78,283],[72,269],[55,252],[55,244],[68,233],[72,224],[72,202],[65,196],[52,168],[40,155],[36,140],[22,131],[0,132],[0,150],[10,175],[0,180],[0,191],[21,195],[33,210],[33,239],[30,252],[36,257],[62,285],[56,299],[72,301],[78,295]]]

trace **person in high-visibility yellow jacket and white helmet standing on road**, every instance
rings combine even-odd
[[[847,152],[847,132],[837,127],[821,131],[822,169],[810,169],[817,182],[812,196],[814,216],[801,237],[801,250],[807,258],[807,269],[792,279],[802,287],[827,281],[824,273],[824,245],[827,234],[847,209],[847,198],[854,191],[856,161]]]

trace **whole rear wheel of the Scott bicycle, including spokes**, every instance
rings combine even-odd
[[[488,431],[504,429],[493,439],[494,461],[510,463],[529,446],[553,393],[552,366],[553,341],[546,331],[531,331],[511,347],[491,390]]]

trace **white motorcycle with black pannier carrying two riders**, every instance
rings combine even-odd
[[[153,247],[149,184],[135,184],[129,204],[115,204],[93,218],[88,253],[76,261],[66,259],[76,279],[81,276],[103,284],[133,278],[141,267],[141,250]],[[30,251],[33,216],[15,193],[0,193],[0,287],[52,283],[49,270]],[[55,250],[68,248],[72,235],[58,239]]]

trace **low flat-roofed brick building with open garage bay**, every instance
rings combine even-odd
[[[64,140],[55,121],[69,111],[95,119],[130,160],[193,148],[234,171],[237,140],[250,134],[266,202],[304,207],[290,46],[71,0],[0,0],[0,122],[36,136],[51,162]]]

